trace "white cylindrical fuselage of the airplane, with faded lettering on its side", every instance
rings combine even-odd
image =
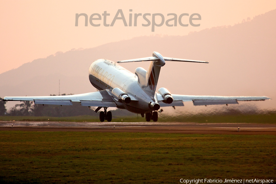
[[[128,94],[131,102],[128,104],[117,102],[117,108],[127,109],[133,113],[147,113],[152,109],[149,103],[156,101],[149,96],[139,85],[138,77],[118,63],[106,59],[94,61],[89,68],[89,80],[98,90],[119,88]]]

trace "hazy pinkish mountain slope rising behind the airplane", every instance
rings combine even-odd
[[[167,62],[157,88],[173,94],[269,96],[276,99],[276,10],[234,26],[213,27],[187,36],[142,36],[95,48],[72,49],[25,63],[0,74],[0,97],[95,91],[88,79],[90,64],[100,58],[113,61],[151,56],[209,61]],[[93,41],[93,40],[91,40]],[[148,62],[123,63],[134,73]],[[275,102],[273,102],[275,101]],[[258,102],[275,108],[276,100]]]

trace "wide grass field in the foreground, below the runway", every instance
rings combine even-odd
[[[276,179],[275,136],[0,131],[1,183]]]

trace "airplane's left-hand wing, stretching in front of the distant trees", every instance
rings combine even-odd
[[[72,105],[72,102],[80,102],[82,106],[116,107],[108,90],[64,96],[4,97],[3,100],[34,101],[35,104],[45,105]]]

